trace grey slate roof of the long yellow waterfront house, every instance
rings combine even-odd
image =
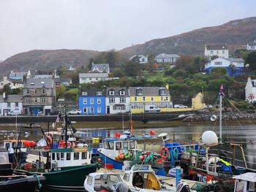
[[[169,91],[165,87],[129,87],[130,96],[136,96],[138,88],[143,90],[143,96],[159,96],[159,89],[165,89],[165,96],[170,96]]]

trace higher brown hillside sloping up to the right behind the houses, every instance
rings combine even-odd
[[[225,44],[230,51],[256,39],[256,17],[232,20],[221,26],[196,29],[184,34],[163,39],[153,39],[142,45],[134,45],[121,50],[127,55],[159,53],[185,53],[203,55],[206,44]]]

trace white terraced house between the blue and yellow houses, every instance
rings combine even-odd
[[[129,90],[127,88],[107,88],[106,113],[129,112]]]

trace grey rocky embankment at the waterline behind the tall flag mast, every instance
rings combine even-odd
[[[219,112],[192,114],[183,119],[184,122],[204,122],[215,120],[219,120]],[[256,120],[256,113],[222,112],[222,120]]]

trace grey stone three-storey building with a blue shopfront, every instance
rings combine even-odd
[[[23,85],[24,115],[48,115],[56,101],[53,79],[27,79]]]

